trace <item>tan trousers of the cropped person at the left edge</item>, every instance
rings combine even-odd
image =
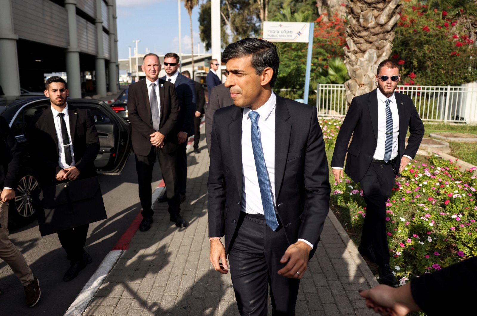
[[[10,266],[13,274],[20,280],[21,285],[27,286],[33,281],[33,273],[20,250],[10,241],[8,207],[9,202],[3,203],[0,200],[0,258]]]

